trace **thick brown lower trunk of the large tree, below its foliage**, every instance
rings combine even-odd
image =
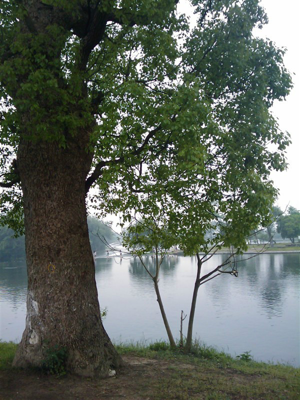
[[[19,145],[28,293],[14,366],[40,366],[54,345],[67,349],[67,370],[77,374],[104,376],[122,362],[100,319],[85,208],[91,159],[81,137],[65,149]]]

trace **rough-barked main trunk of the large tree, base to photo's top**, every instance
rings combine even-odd
[[[37,120],[41,122],[44,118],[45,126],[50,126],[57,137],[63,135],[65,141],[64,146],[55,142],[52,131],[45,132],[44,137],[35,137],[30,124],[36,115],[30,114],[30,107],[25,107],[23,114],[19,111],[22,125],[16,170],[23,192],[28,293],[25,330],[13,364],[40,366],[45,350],[58,346],[67,350],[69,371],[104,376],[109,368],[120,366],[122,361],[101,322],[88,239],[85,182],[92,162],[87,148],[94,122],[91,113],[84,128],[82,123],[74,122],[71,127],[66,122],[61,129],[60,122],[55,126],[55,117],[61,109],[62,118],[63,112],[77,118],[86,113],[86,106],[80,108],[82,102],[88,103],[84,70],[91,49],[101,39],[107,18],[98,20],[95,15],[87,26],[87,11],[80,8],[80,2],[74,2],[77,7],[74,20],[65,4],[60,7],[38,0],[21,2],[24,15],[19,26],[21,33],[27,35],[24,45],[30,68],[25,62],[24,68],[17,70],[18,86],[16,89],[11,86],[10,95],[18,99],[18,104],[29,101],[29,92],[18,98],[18,87],[24,83],[30,85],[35,73],[44,76],[41,71],[55,81],[50,88],[46,81],[41,81],[43,90],[32,89],[35,97],[30,101],[45,111]],[[73,80],[66,82],[60,57],[70,30],[80,37],[80,52],[73,66]],[[24,55],[17,53],[16,57],[22,62]],[[53,126],[51,120],[55,121]],[[32,126],[34,129],[35,123]]]

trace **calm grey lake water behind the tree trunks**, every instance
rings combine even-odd
[[[218,265],[224,254],[203,264],[202,273]],[[244,255],[244,258],[249,255]],[[144,257],[151,271],[151,257]],[[195,257],[168,255],[160,271],[160,294],[173,335],[178,338],[181,309],[189,313],[196,274]],[[138,258],[96,259],[103,321],[114,342],[149,343],[166,339],[151,278]],[[2,340],[19,341],[25,324],[26,268],[2,263]],[[238,277],[221,274],[199,288],[193,337],[233,356],[251,351],[256,360],[299,366],[300,254],[260,254],[238,263]],[[188,318],[188,317],[187,317]],[[186,334],[187,318],[183,321]]]

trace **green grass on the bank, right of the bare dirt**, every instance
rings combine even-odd
[[[165,348],[165,349],[164,349]],[[147,396],[153,400],[298,400],[300,369],[282,364],[256,362],[249,351],[233,358],[212,346],[194,342],[189,354],[170,349],[165,342],[141,347],[121,344],[129,355],[163,359],[165,375],[151,382]],[[187,367],[188,366],[188,367]]]

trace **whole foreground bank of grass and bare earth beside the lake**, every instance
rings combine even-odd
[[[239,359],[195,344],[191,354],[164,342],[116,346],[126,362],[116,378],[52,376],[11,368],[15,344],[0,343],[1,400],[296,400],[300,370]]]

